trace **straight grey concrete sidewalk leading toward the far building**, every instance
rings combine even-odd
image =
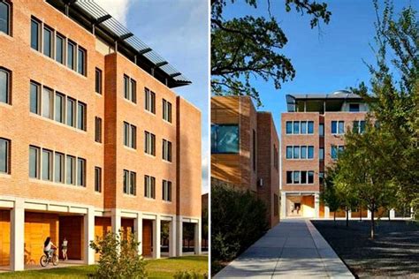
[[[309,220],[269,230],[215,278],[354,278]]]

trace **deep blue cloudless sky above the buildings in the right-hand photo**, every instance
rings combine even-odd
[[[261,94],[263,107],[273,113],[278,133],[280,114],[286,111],[286,94],[329,94],[339,89],[355,87],[361,81],[369,81],[369,72],[362,59],[374,63],[374,53],[369,47],[374,43],[376,13],[372,0],[324,1],[331,11],[329,25],[322,23],[320,29],[310,29],[307,15],[296,11],[286,12],[285,1],[270,0],[270,11],[288,38],[280,52],[291,59],[296,76],[276,90],[272,82],[254,80],[253,85]],[[322,2],[322,1],[319,1]],[[245,14],[268,16],[267,1],[260,0],[258,9],[244,1],[227,5],[225,18]],[[384,1],[379,1],[383,6]],[[394,0],[395,11],[415,0]]]

